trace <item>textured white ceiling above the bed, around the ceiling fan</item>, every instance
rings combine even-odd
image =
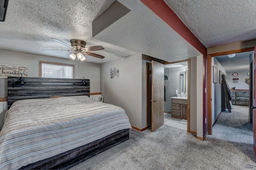
[[[42,51],[69,49],[53,41],[70,44],[70,39],[87,42],[86,47],[102,45],[93,51],[104,59],[86,56],[87,62],[103,63],[136,52],[92,38],[92,21],[114,0],[9,0],[5,22],[0,22],[0,48],[69,58],[72,52]]]

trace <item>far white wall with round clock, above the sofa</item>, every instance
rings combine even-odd
[[[248,69],[249,71],[249,69]],[[233,72],[227,72],[227,78],[226,81],[228,82],[228,85],[230,89],[232,87],[238,87],[237,89],[246,89],[249,90],[249,85],[246,83],[245,79],[250,78],[250,76],[247,75],[248,71],[233,71]],[[233,73],[236,72],[238,73],[238,76],[233,77]],[[233,83],[233,78],[239,78],[238,83]]]

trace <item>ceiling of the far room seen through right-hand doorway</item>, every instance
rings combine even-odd
[[[250,55],[252,51],[244,53],[236,53],[233,58],[229,58],[228,55],[221,55],[214,57],[222,65],[227,72],[233,71],[249,71],[250,67]]]

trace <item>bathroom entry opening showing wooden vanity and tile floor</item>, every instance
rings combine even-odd
[[[164,65],[164,124],[190,131],[190,60]]]

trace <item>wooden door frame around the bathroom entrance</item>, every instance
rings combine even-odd
[[[184,61],[188,61],[188,87],[189,88],[188,88],[188,110],[187,110],[188,127],[187,127],[187,131],[196,134],[196,132],[190,131],[190,59],[184,59],[184,60],[172,61],[172,62],[167,62],[166,61],[162,64],[166,65],[166,64],[180,63],[180,62],[184,62]]]

